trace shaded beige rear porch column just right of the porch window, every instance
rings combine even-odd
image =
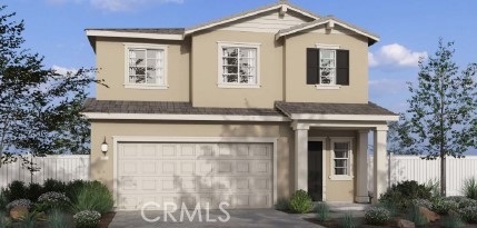
[[[357,157],[357,179],[356,179],[356,202],[369,202],[368,195],[368,133],[369,130],[359,131],[358,157]]]

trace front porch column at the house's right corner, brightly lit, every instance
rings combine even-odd
[[[387,132],[388,127],[381,126],[377,127],[375,129],[375,146],[374,146],[374,196],[372,196],[372,204],[378,202],[378,198],[381,194],[386,191],[386,188],[388,186],[388,167],[387,167]]]

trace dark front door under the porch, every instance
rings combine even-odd
[[[322,142],[308,142],[308,192],[314,201],[322,201]]]

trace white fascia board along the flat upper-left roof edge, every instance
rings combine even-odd
[[[103,31],[88,29],[86,30],[88,37],[121,37],[121,38],[142,38],[153,40],[183,40],[183,34],[158,34],[145,32],[119,32],[119,31]]]

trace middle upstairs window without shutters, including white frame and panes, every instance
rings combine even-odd
[[[219,44],[219,87],[259,86],[259,47],[256,44]]]

